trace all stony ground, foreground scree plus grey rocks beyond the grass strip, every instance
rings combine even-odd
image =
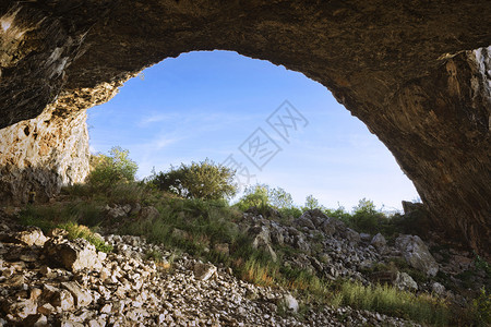
[[[301,301],[282,288],[244,282],[229,268],[187,254],[176,256],[139,237],[104,235],[113,246],[106,254],[83,239],[68,240],[64,230],[45,235],[38,228],[2,218],[0,326],[415,325],[350,307],[304,308],[300,315]],[[445,265],[439,263],[419,237],[400,235],[388,245],[381,234],[359,234],[316,210],[290,226],[249,213],[238,227],[272,259],[278,259],[278,246],[298,250],[283,258],[285,265],[331,279],[386,281],[400,289],[466,301],[434,277],[439,270],[454,276],[472,261],[459,253],[446,258]],[[146,259],[148,253],[160,253],[161,259]],[[391,258],[404,259],[426,276],[424,281],[417,282],[397,269],[367,272]]]

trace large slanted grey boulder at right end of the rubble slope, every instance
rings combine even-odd
[[[427,276],[435,276],[439,272],[436,261],[418,235],[400,235],[395,244],[412,268],[423,271]]]

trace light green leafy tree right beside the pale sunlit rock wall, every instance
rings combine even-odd
[[[110,187],[116,183],[134,182],[139,166],[131,160],[129,150],[115,146],[109,156],[98,154],[91,157],[91,173],[87,183],[96,187]]]

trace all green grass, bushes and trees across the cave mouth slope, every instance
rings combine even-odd
[[[429,294],[416,295],[394,287],[362,286],[348,280],[334,282],[284,265],[283,258],[297,253],[298,249],[275,246],[278,261],[273,262],[268,253],[253,249],[251,237],[239,229],[242,213],[251,207],[264,217],[279,221],[299,217],[306,209],[318,208],[357,231],[382,231],[388,238],[403,227],[411,227],[411,222],[405,221],[400,215],[387,217],[376,210],[371,201],[361,199],[354,211],[348,213],[340,206],[327,209],[313,196],[308,196],[304,207],[299,208],[285,190],[258,184],[249,187],[239,202],[230,206],[225,198],[236,192],[231,182],[233,172],[208,160],[154,173],[143,182],[134,180],[137,167],[129,159],[127,150],[113,148],[110,156],[96,156],[93,165],[86,184],[65,187],[60,201],[55,204],[27,206],[21,213],[22,221],[39,226],[45,232],[56,227],[63,228],[70,238],[84,238],[105,252],[111,251],[110,246],[92,230],[118,226],[122,234],[143,235],[149,242],[163,244],[175,252],[221,263],[243,280],[287,288],[302,299],[302,310],[309,305],[349,305],[424,325],[445,326],[458,322],[456,315],[459,312],[452,312],[444,300]],[[136,211],[125,218],[110,219],[105,208],[112,204],[153,206],[158,214],[142,216]],[[221,243],[228,244],[228,254],[215,246]],[[147,252],[145,258],[169,268],[169,263],[163,261],[161,254],[156,251]],[[476,267],[489,272],[489,265],[479,257]],[[417,271],[396,259],[387,265],[375,265],[372,269],[386,268],[407,271],[418,279]],[[470,320],[481,326],[489,323],[490,302],[483,289],[474,302],[472,317],[464,325]]]

